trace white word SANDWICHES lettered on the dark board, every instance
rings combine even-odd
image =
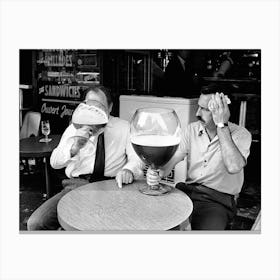
[[[79,99],[81,97],[80,86],[68,85],[45,85],[45,96],[66,97],[70,99]]]

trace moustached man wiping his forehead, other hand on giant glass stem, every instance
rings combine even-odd
[[[226,97],[217,85],[203,87],[198,100],[197,122],[187,126],[173,158],[160,170],[150,169],[148,183],[157,184],[176,163],[187,156],[186,183],[177,188],[193,202],[193,230],[224,230],[236,212],[234,196],[242,188],[243,168],[250,153],[251,134],[229,122]]]

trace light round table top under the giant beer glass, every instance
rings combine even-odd
[[[115,180],[81,186],[58,203],[58,220],[65,230],[168,230],[192,212],[190,198],[178,189],[162,196],[138,191],[144,180],[119,189]]]

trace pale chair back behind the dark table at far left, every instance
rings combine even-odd
[[[27,112],[20,130],[20,139],[30,137],[31,135],[38,136],[40,121],[41,113]]]

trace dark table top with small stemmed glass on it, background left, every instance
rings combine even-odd
[[[22,157],[45,157],[50,156],[58,145],[61,135],[49,135],[52,141],[39,142],[44,136],[28,137],[20,140],[20,156]]]

